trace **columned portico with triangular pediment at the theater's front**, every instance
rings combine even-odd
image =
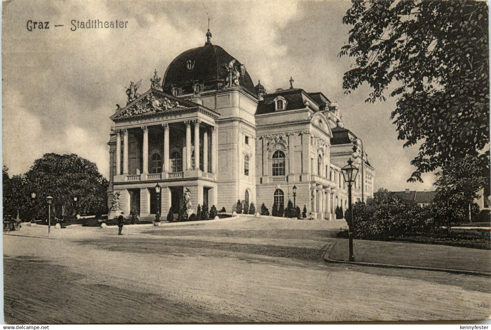
[[[172,203],[182,202],[184,188],[191,190],[193,208],[217,203],[217,118],[213,110],[153,89],[111,117],[113,190],[124,213],[151,216],[157,183],[163,212],[179,209]]]

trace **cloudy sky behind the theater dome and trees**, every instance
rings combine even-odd
[[[4,1],[2,3],[2,163],[27,172],[44,153],[76,153],[109,176],[109,133],[130,81],[150,87],[182,52],[212,43],[244,63],[268,91],[321,91],[338,102],[345,127],[363,140],[375,189],[433,189],[434,176],[408,183],[416,146],[404,148],[390,113],[395,99],[365,103],[367,86],[345,94],[354,58],[338,57],[350,26],[346,0],[325,1]],[[126,28],[76,29],[71,21],[128,21]],[[50,22],[27,30],[27,21]],[[55,27],[55,25],[63,25]],[[388,94],[388,93],[387,93]]]

